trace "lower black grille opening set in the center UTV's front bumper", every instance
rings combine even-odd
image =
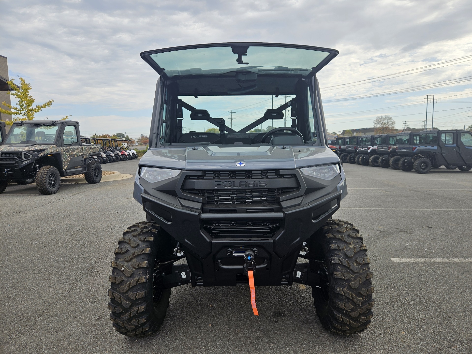
[[[211,237],[272,237],[280,228],[277,220],[204,221],[203,228]]]

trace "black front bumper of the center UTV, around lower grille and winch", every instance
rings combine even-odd
[[[288,208],[275,213],[218,214],[200,212],[181,207],[149,194],[141,194],[143,209],[180,243],[191,270],[192,285],[233,286],[247,281],[243,276],[243,257],[234,255],[237,250],[253,249],[257,252],[258,285],[291,284],[293,270],[301,246],[339,209],[341,191],[319,200]],[[212,238],[202,227],[208,220],[278,220],[281,229],[271,238]],[[236,252],[237,253],[237,252]],[[287,275],[286,280],[282,279]]]

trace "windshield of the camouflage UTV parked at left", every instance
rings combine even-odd
[[[52,144],[56,140],[59,126],[24,124],[13,126],[8,132],[5,144]]]

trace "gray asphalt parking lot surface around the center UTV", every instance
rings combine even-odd
[[[134,174],[137,160],[103,165]],[[134,178],[62,185],[39,194],[8,185],[2,218],[0,353],[472,353],[472,171],[427,175],[345,164],[349,195],[335,214],[364,236],[374,271],[371,326],[323,329],[311,289],[172,289],[159,333],[124,337],[109,319],[110,261],[122,231],[145,215]]]

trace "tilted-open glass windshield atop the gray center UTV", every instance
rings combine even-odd
[[[150,57],[169,77],[224,74],[240,69],[262,75],[290,73],[306,76],[330,52],[299,48],[234,45],[176,49],[151,54]]]

